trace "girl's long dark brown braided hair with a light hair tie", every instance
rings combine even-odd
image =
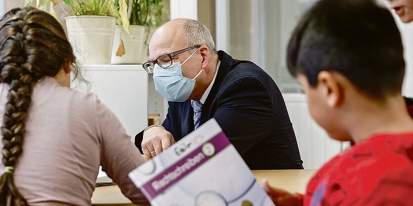
[[[14,8],[0,19],[0,82],[10,85],[1,130],[0,206],[27,206],[14,185],[13,169],[22,154],[24,126],[36,82],[54,77],[74,63],[63,28],[50,14],[33,7]],[[77,76],[78,69],[72,67]]]

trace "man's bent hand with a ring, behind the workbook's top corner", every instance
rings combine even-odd
[[[152,158],[174,143],[175,140],[171,132],[161,126],[152,126],[143,133],[142,152],[146,157]]]

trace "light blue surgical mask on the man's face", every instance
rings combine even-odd
[[[196,52],[196,51],[195,51]],[[191,95],[195,86],[195,79],[201,74],[203,69],[193,78],[188,79],[182,75],[182,65],[195,54],[193,52],[182,64],[174,62],[166,69],[161,68],[158,64],[153,68],[153,82],[155,89],[163,97],[171,102],[184,102]]]

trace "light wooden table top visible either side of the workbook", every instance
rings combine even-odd
[[[289,192],[304,193],[310,178],[316,169],[299,170],[252,170],[260,182],[266,178],[270,185],[282,188]],[[93,206],[134,206],[123,196],[117,185],[96,187],[92,195]]]

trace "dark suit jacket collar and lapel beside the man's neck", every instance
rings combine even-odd
[[[233,59],[231,56],[229,56],[224,51],[218,51],[218,57],[221,61],[220,68],[218,69],[218,74],[215,78],[214,84],[212,85],[211,91],[209,92],[208,97],[205,100],[204,106],[202,107],[200,124],[204,124],[210,118],[212,118],[213,115],[210,114],[212,102],[214,102],[215,98],[217,97],[218,90],[221,87],[221,83],[224,81],[225,77],[232,69]]]

